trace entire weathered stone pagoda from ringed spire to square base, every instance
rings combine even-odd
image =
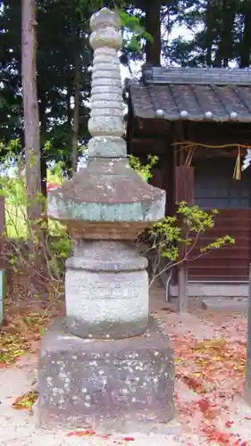
[[[66,316],[44,336],[38,423],[100,432],[149,431],[173,416],[169,340],[148,314],[138,233],[164,215],[165,193],[130,169],[126,154],[121,22],[109,9],[90,21],[94,49],[89,160],[49,194],[48,215],[69,227]]]

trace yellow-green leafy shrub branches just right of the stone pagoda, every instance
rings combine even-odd
[[[152,177],[151,170],[158,158],[148,155],[147,163],[142,164],[135,156],[130,156],[130,166],[148,181]],[[153,280],[183,261],[192,261],[207,255],[213,250],[219,250],[235,241],[230,235],[215,238],[210,244],[199,247],[199,253],[192,257],[198,241],[206,231],[215,225],[215,217],[219,213],[216,209],[205,211],[197,204],[188,206],[180,202],[176,214],[167,216],[149,227],[144,236],[139,236],[138,247],[142,254],[151,257]],[[180,256],[180,252],[182,253]],[[160,268],[162,260],[165,261]]]

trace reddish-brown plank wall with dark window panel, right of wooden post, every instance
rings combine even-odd
[[[230,235],[235,244],[213,250],[188,261],[188,279],[200,281],[246,281],[251,254],[251,175],[233,179],[235,160],[214,158],[195,161],[195,202],[205,211],[215,207],[215,226],[200,238],[205,246],[217,237]],[[195,250],[193,257],[199,255]]]

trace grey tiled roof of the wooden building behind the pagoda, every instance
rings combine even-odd
[[[129,94],[142,119],[251,122],[251,70],[146,66]]]

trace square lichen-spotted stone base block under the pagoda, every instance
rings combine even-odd
[[[151,318],[146,335],[116,341],[69,335],[57,322],[40,351],[38,423],[149,432],[173,417],[173,359]]]

